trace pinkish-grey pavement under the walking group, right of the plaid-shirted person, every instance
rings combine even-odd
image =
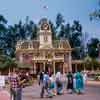
[[[34,85],[32,87],[27,87],[23,90],[23,100],[41,100],[40,98],[40,87]],[[85,88],[85,93],[82,95],[68,94],[55,96],[51,98],[43,98],[43,100],[99,100],[100,99],[100,85],[87,85]]]

